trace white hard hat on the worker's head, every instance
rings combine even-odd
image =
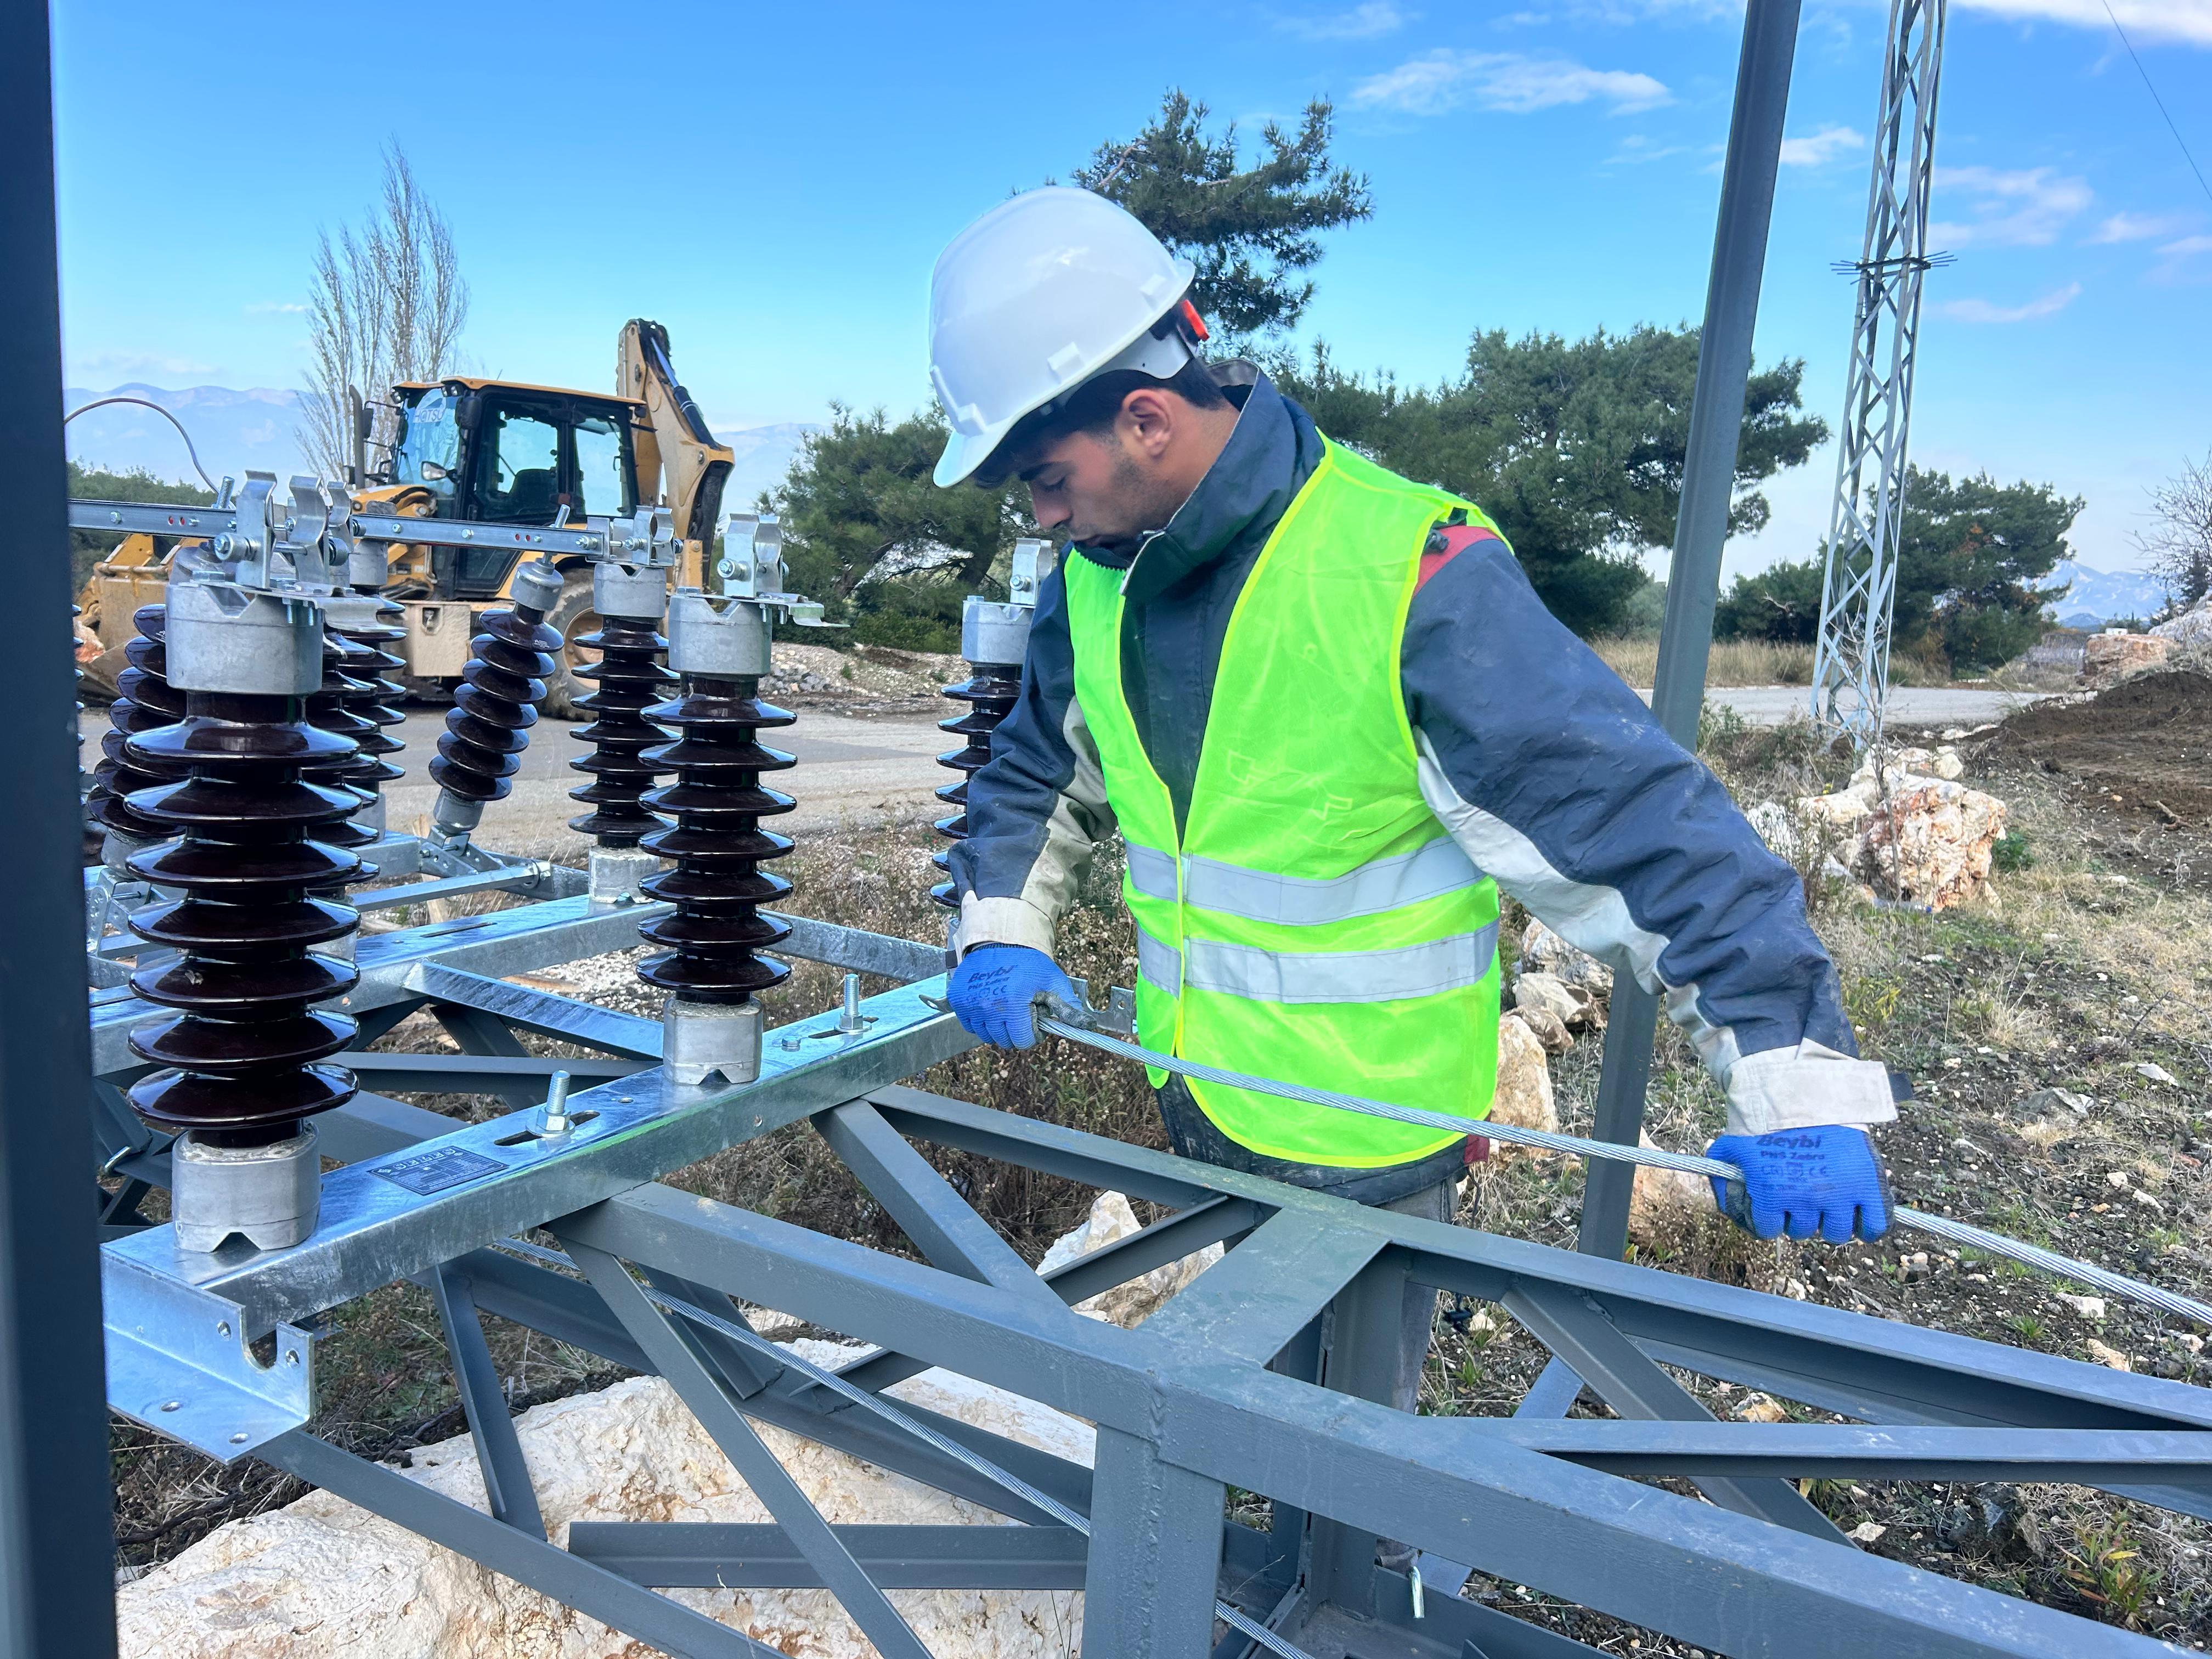
[[[1192,268],[1091,190],[1044,186],[998,204],[929,276],[929,378],[951,420],[938,484],[975,471],[1026,414],[1108,369],[1166,380],[1190,361],[1152,327]]]

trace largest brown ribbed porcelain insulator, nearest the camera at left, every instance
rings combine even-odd
[[[321,841],[358,801],[305,776],[347,750],[305,721],[303,699],[239,692],[188,692],[181,723],[131,741],[135,761],[186,774],[131,799],[179,836],[133,856],[133,874],[184,894],[131,918],[142,940],[179,953],[131,975],[135,995],[175,1009],[131,1033],[142,1057],[170,1068],[131,1088],[150,1124],[259,1146],[352,1099],[354,1075],[316,1062],[352,1042],[354,1022],[314,1004],[345,995],[358,975],[312,947],[358,922],[316,898],[361,869]]]

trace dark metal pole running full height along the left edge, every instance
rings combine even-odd
[[[0,1657],[115,1652],[44,0],[0,4]]]

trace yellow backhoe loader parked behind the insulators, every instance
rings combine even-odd
[[[593,657],[577,641],[599,624],[582,546],[593,542],[595,529],[604,533],[608,520],[630,518],[639,507],[670,509],[684,542],[675,582],[708,586],[706,551],[734,458],[714,442],[699,405],[677,380],[668,330],[659,323],[624,323],[615,396],[447,376],[396,385],[383,407],[392,416],[383,422],[389,440],[369,440],[372,420],[363,407],[347,482],[354,511],[367,524],[403,535],[407,526],[387,520],[438,522],[436,531],[422,526],[420,542],[389,542],[385,577],[385,595],[405,611],[407,639],[398,650],[418,688],[460,679],[476,615],[507,597],[524,557],[544,551],[566,573],[560,604],[546,617],[566,639],[566,653],[546,686],[544,710],[571,712],[586,690],[573,670]],[[133,613],[161,599],[170,551],[206,533],[206,520],[219,513],[219,507],[139,507],[111,515],[133,533],[93,568],[77,599],[84,613],[77,619],[80,659],[91,681],[113,692]]]

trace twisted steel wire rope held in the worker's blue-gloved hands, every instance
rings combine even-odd
[[[1223,1088],[1248,1088],[1259,1095],[1276,1095],[1281,1099],[1305,1102],[1307,1106],[1334,1106],[1347,1113],[1360,1113],[1365,1117],[1389,1117],[1398,1124],[1420,1124],[1422,1128],[1442,1128],[1462,1135],[1484,1135],[1493,1141],[1515,1141],[1520,1146],[1540,1146],[1548,1152],[1575,1152],[1577,1157],[1601,1157],[1617,1164],[1646,1164],[1659,1170],[1683,1170],[1686,1175],[1719,1177],[1723,1181],[1741,1181],[1743,1170],[1734,1164],[1723,1164],[1714,1157],[1697,1157],[1694,1152],[1668,1152],[1663,1148],[1646,1146],[1617,1146],[1615,1141],[1593,1141],[1582,1135],[1555,1135],[1542,1128],[1520,1128],[1515,1124],[1491,1124],[1486,1119],[1473,1117],[1449,1117],[1444,1113],[1427,1113],[1418,1106],[1391,1106],[1378,1099],[1360,1099],[1358,1095],[1338,1095],[1329,1088],[1307,1088],[1305,1084],[1279,1084],[1272,1077],[1248,1077],[1241,1071],[1223,1071],[1221,1066],[1201,1066],[1192,1060],[1177,1060],[1175,1055],[1159,1055],[1150,1048],[1139,1048],[1133,1042],[1110,1037],[1102,1031],[1086,1031],[1073,1026],[1066,1020],[1055,1020],[1051,1015],[1040,1015],[1037,1026],[1051,1031],[1057,1037],[1071,1042],[1088,1044],[1091,1048],[1102,1048],[1121,1060],[1135,1060],[1144,1066],[1157,1066],[1159,1071],[1172,1071],[1179,1077],[1197,1077],[1201,1084],[1221,1084]],[[1951,1217],[1929,1214],[1927,1210],[1911,1210],[1902,1203],[1891,1206],[1891,1217],[1916,1232],[1929,1232],[1938,1239],[1951,1239],[1973,1250],[1984,1250],[1993,1256],[2006,1256],[2011,1261],[2026,1263],[2031,1267],[2042,1267],[2059,1279],[2075,1279],[2097,1290],[2106,1290],[2115,1296],[2126,1296],[2128,1301],[2148,1303],[2168,1314],[2194,1321],[2197,1325],[2212,1325],[2212,1305],[2205,1305],[2192,1296],[2183,1296],[2159,1285],[2146,1285],[2139,1279],[2128,1279],[2126,1274],[2099,1267],[2093,1261],[2075,1261],[2073,1256],[2062,1256],[2055,1250],[2044,1250],[2042,1245],[2024,1243],[2020,1239],[2006,1239],[2002,1232],[1989,1232],[1975,1228],[1966,1221],[1953,1221]]]

